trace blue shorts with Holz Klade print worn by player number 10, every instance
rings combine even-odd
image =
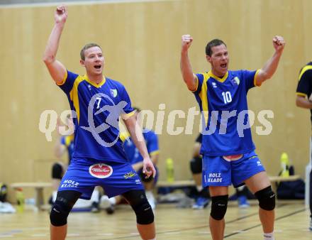
[[[203,187],[229,186],[239,187],[264,167],[255,151],[243,154],[238,160],[225,160],[222,156],[204,156]]]

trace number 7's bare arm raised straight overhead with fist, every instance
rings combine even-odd
[[[43,62],[45,62],[45,65],[48,67],[52,79],[60,84],[66,75],[66,68],[62,65],[62,62],[56,60],[55,57],[60,43],[60,36],[67,19],[67,9],[65,6],[62,5],[57,7],[54,13],[54,19],[55,25],[45,48]]]

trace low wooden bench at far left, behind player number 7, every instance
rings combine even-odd
[[[43,188],[52,187],[51,182],[14,182],[11,184],[11,187],[16,190],[17,188],[30,187],[35,189],[35,207],[37,209],[42,209],[44,200],[43,200]]]

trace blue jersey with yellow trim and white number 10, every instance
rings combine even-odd
[[[203,119],[201,154],[227,156],[255,150],[250,128],[242,135],[238,116],[247,123],[247,92],[256,86],[257,72],[228,71],[222,79],[211,71],[196,74],[194,94]]]

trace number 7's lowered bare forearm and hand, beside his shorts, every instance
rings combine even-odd
[[[135,146],[138,148],[138,151],[143,156],[143,173],[145,173],[146,178],[149,178],[150,175],[153,175],[153,177],[155,177],[156,170],[154,168],[154,165],[152,164],[152,161],[150,160],[142,130],[138,122],[136,121],[135,116],[130,116],[128,119],[123,119],[123,121],[125,122],[126,128],[128,129],[130,138],[132,139]]]

